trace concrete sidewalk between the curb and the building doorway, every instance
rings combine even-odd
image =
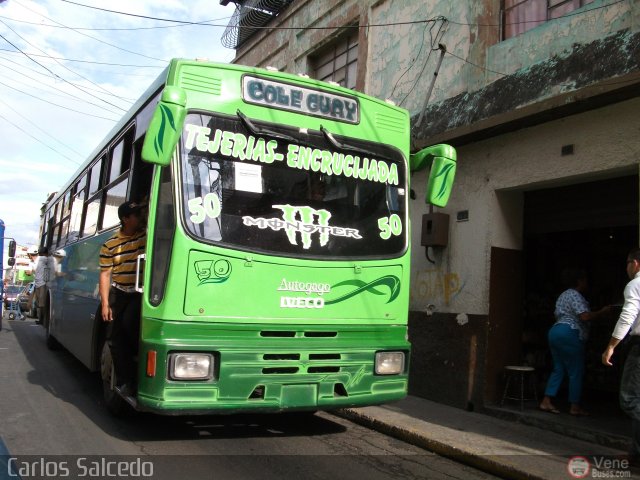
[[[494,415],[500,415],[500,411],[509,413],[508,409],[493,410],[498,412],[493,411],[491,415],[467,412],[409,396],[390,405],[345,409],[340,411],[340,415],[503,478],[578,478],[572,477],[568,471],[569,460],[575,456],[586,457],[590,462],[592,472],[586,475],[588,478],[605,470],[601,463],[599,467],[596,465],[596,462],[603,459],[614,463],[606,469],[614,471],[611,476],[640,478],[640,471],[620,468],[620,456],[626,453],[629,441],[624,435],[599,433],[600,430],[596,428],[585,428],[578,423],[582,418],[570,417],[568,414],[551,415],[536,411],[536,414],[542,416],[536,425],[536,414],[529,415],[533,422],[524,424],[521,423],[522,419],[517,418],[520,413],[517,409],[511,411],[515,415],[512,420]],[[545,429],[544,415],[551,417],[548,421],[553,420],[563,425],[566,428],[565,434]],[[563,419],[562,416],[567,418]],[[591,417],[587,419],[589,420]],[[592,437],[586,436],[592,441],[580,439],[584,432],[593,434]],[[568,433],[572,436],[568,436]],[[605,445],[594,443],[601,440],[599,435],[605,437],[605,441],[599,442]],[[575,438],[576,436],[579,438]],[[596,469],[599,472],[595,472]]]

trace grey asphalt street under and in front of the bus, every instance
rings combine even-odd
[[[0,446],[23,478],[105,473],[104,462],[194,480],[495,478],[328,413],[115,418],[97,374],[48,350],[33,319],[3,322],[0,392]]]

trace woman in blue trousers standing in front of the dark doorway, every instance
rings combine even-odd
[[[551,398],[558,394],[565,375],[569,379],[569,413],[575,416],[587,416],[582,408],[582,380],[584,378],[585,344],[589,336],[589,323],[604,318],[610,311],[604,307],[592,312],[589,302],[584,298],[588,289],[587,273],[583,269],[567,269],[562,274],[567,288],[556,301],[554,315],[556,323],[549,330],[549,348],[553,358],[553,370],[547,381],[545,396],[540,410],[560,413]]]

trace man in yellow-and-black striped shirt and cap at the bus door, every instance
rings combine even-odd
[[[111,323],[111,354],[116,384],[125,395],[135,393],[142,295],[135,290],[136,261],[144,253],[147,235],[141,206],[125,202],[118,207],[120,230],[100,249],[102,320]]]

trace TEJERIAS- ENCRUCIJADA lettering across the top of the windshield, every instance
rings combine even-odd
[[[213,155],[220,153],[226,157],[236,158],[241,161],[250,160],[261,163],[281,162],[285,155],[279,153],[278,141],[265,141],[256,139],[252,135],[248,137],[242,133],[234,133],[216,129],[213,132],[208,127],[187,123],[186,148]],[[395,163],[387,163],[384,160],[358,155],[344,154],[322,150],[319,148],[305,147],[296,144],[288,144],[286,154],[287,166],[299,170],[320,172],[326,175],[342,175],[370,182],[398,185],[398,166]]]

